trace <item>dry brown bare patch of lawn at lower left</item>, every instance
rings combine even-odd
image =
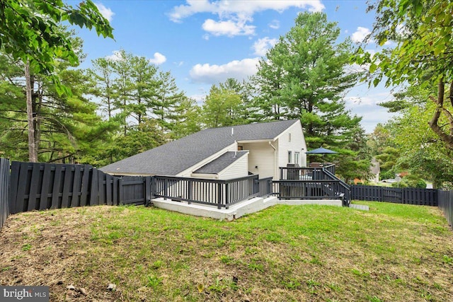
[[[52,301],[93,301],[94,292],[96,301],[119,298],[105,280],[91,280],[91,288],[80,290],[71,278],[87,257],[77,246],[90,241],[91,226],[108,211],[91,207],[10,216],[0,231],[0,284],[50,286]]]

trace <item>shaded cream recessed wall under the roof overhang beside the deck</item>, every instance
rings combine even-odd
[[[275,142],[271,142],[271,144],[277,147]],[[278,178],[275,169],[275,151],[269,141],[239,144],[239,146],[243,146],[243,150],[250,152],[248,153],[248,170],[251,173],[260,175],[260,178]]]

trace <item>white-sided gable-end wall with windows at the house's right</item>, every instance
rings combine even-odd
[[[278,145],[278,166],[286,167],[288,164],[288,151],[292,153],[292,163],[294,163],[294,153],[299,152],[299,165],[306,166],[306,144],[304,133],[300,122],[294,123],[285,132],[280,134],[276,144]]]

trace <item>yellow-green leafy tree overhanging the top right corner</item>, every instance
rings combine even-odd
[[[376,86],[408,84],[428,88],[427,101],[435,105],[430,129],[453,150],[453,2],[427,0],[381,0],[369,6],[377,14],[369,40],[381,46],[394,42],[373,57],[358,48],[355,60],[369,64],[369,83]],[[447,98],[447,100],[446,100]],[[441,122],[442,117],[447,124]]]

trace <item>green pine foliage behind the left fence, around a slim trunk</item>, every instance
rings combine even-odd
[[[47,76],[30,74],[33,141],[37,161],[93,163],[115,125],[96,115],[96,104],[84,97],[88,79],[81,70],[60,62],[55,73],[71,95],[59,95]],[[33,72],[33,71],[31,71]],[[0,52],[0,149],[9,158],[26,161],[28,119],[25,111],[23,63]]]

